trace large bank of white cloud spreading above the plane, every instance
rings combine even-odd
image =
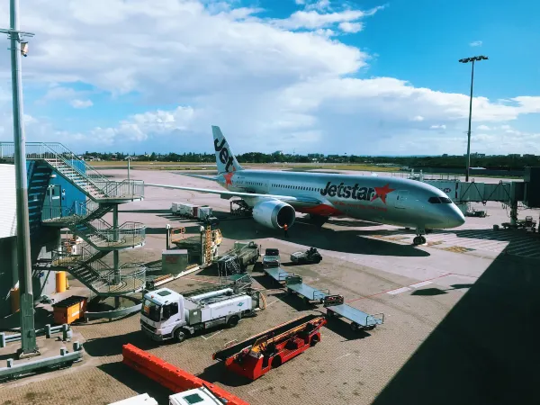
[[[61,84],[49,88],[48,103],[89,100],[89,92],[72,89],[81,88],[73,85],[80,82],[112,95],[119,105],[148,105],[148,112],[125,113],[117,124],[111,124],[110,114],[105,121],[98,108],[92,109],[97,126],[70,130],[74,137],[66,138],[78,139],[77,147],[202,151],[211,147],[210,125],[219,124],[237,152],[300,145],[327,153],[340,153],[343,145],[350,153],[460,153],[464,148],[467,94],[415,87],[393,77],[358,78],[369,77],[359,72],[371,56],[339,42],[338,34],[380,8],[306,7],[275,20],[234,2],[211,2],[211,7],[195,0],[49,3],[22,4],[22,29],[40,32],[24,59],[25,88]],[[0,3],[0,14],[7,12]],[[0,59],[0,77],[6,80],[8,63]],[[0,92],[0,103],[2,97]],[[156,105],[171,107],[157,110]],[[9,103],[0,107],[2,138],[11,133],[9,108]],[[66,133],[64,121],[27,110],[36,120],[28,124],[30,140]],[[121,105],[121,111],[130,110]],[[537,112],[540,97],[473,99],[479,130]],[[437,132],[429,130],[432,126]],[[533,132],[520,130],[510,150],[535,139]],[[501,126],[490,136],[495,140],[482,143],[486,152],[507,135]]]

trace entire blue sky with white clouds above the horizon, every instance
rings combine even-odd
[[[88,151],[540,155],[540,2],[25,0],[29,141]],[[9,1],[0,0],[0,27]],[[9,42],[0,140],[13,139]]]

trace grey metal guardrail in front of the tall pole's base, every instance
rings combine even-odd
[[[23,362],[14,365],[14,359],[7,359],[7,367],[0,368],[0,381],[10,380],[24,374],[40,371],[44,368],[58,368],[58,366],[73,364],[83,359],[83,347],[79,342],[73,343],[73,352],[69,353],[65,347],[60,349],[60,356],[44,357],[33,362]]]

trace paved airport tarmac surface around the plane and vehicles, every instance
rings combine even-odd
[[[126,170],[103,174],[125,178]],[[219,189],[175,172],[131,170],[130,175],[146,183]],[[142,336],[138,315],[75,325],[84,342],[85,362],[4,383],[0,404],[108,404],[143,392],[166,404],[171,392],[121,364],[121,345],[126,343],[254,405],[536,403],[540,238],[522,229],[494,231],[493,224],[508,220],[499,203],[478,207],[487,210],[488,217],[467,218],[458,229],[434,231],[425,246],[414,247],[414,235],[406,229],[345,218],[317,229],[299,217],[290,238],[284,238],[254,220],[231,218],[229,201],[216,194],[154,187],[146,187],[145,194],[144,201],[120,207],[120,222],[136,220],[148,226],[146,245],[122,251],[121,262],[156,266],[166,248],[166,224],[184,226],[188,232],[198,227],[171,215],[171,203],[208,204],[221,219],[220,252],[236,240],[255,240],[263,249],[277,247],[284,266],[302,275],[304,283],[343,294],[349,305],[367,313],[383,313],[384,324],[353,332],[347,320],[330,320],[317,347],[255,382],[241,381],[224,372],[211,354],[233,339],[324,311],[250,269],[268,303],[256,318],[242,320],[234,329],[215,329],[164,345]],[[538,213],[527,210],[520,216],[537,220]],[[307,247],[317,247],[322,262],[289,266],[290,254]],[[204,269],[166,286],[182,292],[217,283],[216,275]]]

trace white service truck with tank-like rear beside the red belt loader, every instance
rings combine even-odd
[[[168,288],[144,295],[140,328],[153,340],[175,339],[182,342],[197,331],[218,325],[233,328],[242,318],[255,316],[260,294],[232,288],[184,297]]]

